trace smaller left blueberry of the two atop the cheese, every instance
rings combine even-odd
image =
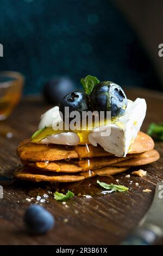
[[[63,115],[65,121],[65,107],[69,107],[69,115],[72,111],[78,111],[82,118],[82,111],[90,110],[89,95],[86,93],[72,92],[67,94],[60,102],[59,111]],[[70,118],[70,120],[73,118]]]

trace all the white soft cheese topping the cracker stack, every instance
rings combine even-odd
[[[128,100],[126,113],[118,118],[114,123],[108,124],[105,127],[95,127],[88,135],[90,144],[97,146],[101,145],[104,150],[114,154],[115,156],[126,156],[131,142],[134,141],[137,133],[140,130],[143,119],[146,115],[145,99],[137,98],[134,102]],[[60,123],[59,107],[49,109],[48,112],[42,115],[39,124],[39,129],[47,126],[53,126]],[[109,136],[101,136],[101,132],[110,126],[111,133]],[[49,135],[42,139],[43,144],[63,144],[63,145],[78,145],[80,138],[75,132],[61,132]]]

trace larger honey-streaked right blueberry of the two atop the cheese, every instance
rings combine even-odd
[[[104,81],[96,84],[90,95],[92,111],[111,111],[111,117],[123,115],[127,108],[127,97],[118,84]]]

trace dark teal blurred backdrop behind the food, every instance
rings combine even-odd
[[[1,0],[0,8],[0,69],[22,72],[25,93],[40,92],[53,75],[159,89],[145,50],[109,0]]]

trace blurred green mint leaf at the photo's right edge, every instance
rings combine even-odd
[[[163,123],[151,123],[148,127],[147,134],[158,141],[163,141]]]

